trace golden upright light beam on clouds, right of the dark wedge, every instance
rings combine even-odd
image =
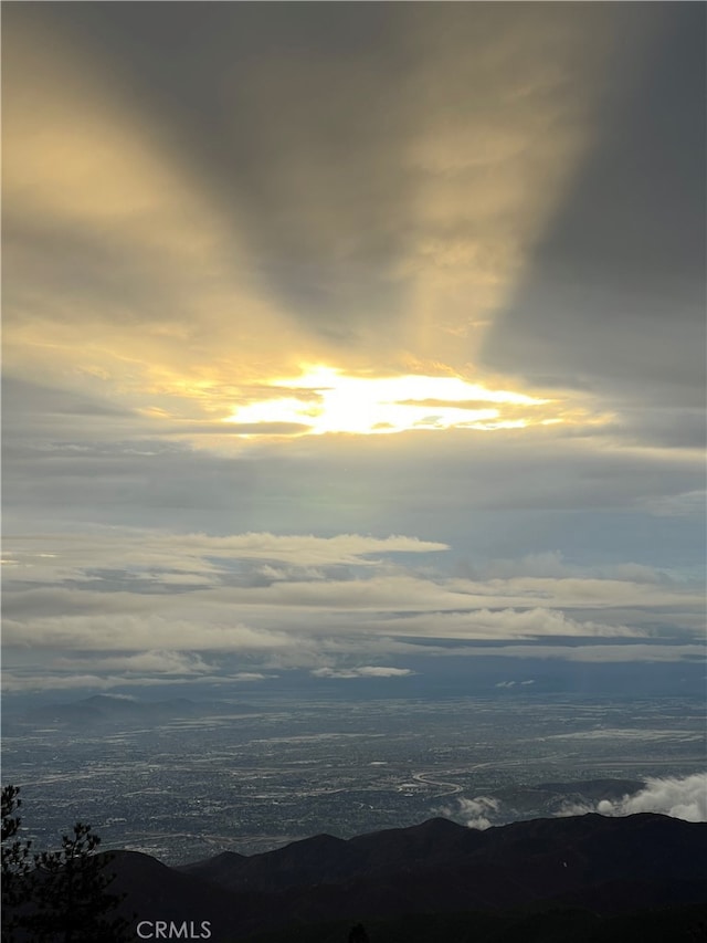
[[[411,38],[425,119],[409,143],[415,224],[398,275],[411,346],[463,370],[513,296],[545,228],[594,144],[611,11],[571,4],[471,4],[450,22],[434,4]],[[463,343],[460,343],[463,342]]]

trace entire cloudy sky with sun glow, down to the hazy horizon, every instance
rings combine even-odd
[[[6,693],[704,690],[705,15],[4,3]]]

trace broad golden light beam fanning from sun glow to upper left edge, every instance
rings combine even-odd
[[[193,415],[234,370],[294,367],[306,338],[167,126],[36,23],[4,52],[6,369]]]

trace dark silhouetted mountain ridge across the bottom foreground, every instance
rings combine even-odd
[[[113,853],[127,913],[214,943],[346,943],[358,922],[370,943],[707,940],[707,824],[659,815],[436,818],[179,868]]]

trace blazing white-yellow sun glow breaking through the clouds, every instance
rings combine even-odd
[[[283,396],[236,407],[225,421],[246,426],[300,423],[308,434],[511,429],[537,421],[530,412],[518,416],[519,407],[530,411],[550,402],[487,389],[460,377],[356,377],[326,366],[304,367],[302,376],[272,380],[268,387],[282,389]],[[507,415],[509,408],[513,416]]]

